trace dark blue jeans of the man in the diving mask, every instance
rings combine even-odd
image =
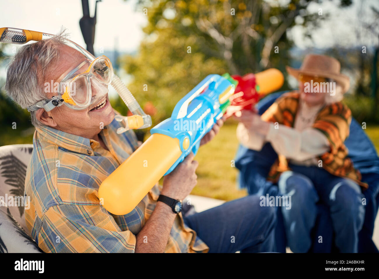
[[[276,208],[250,195],[184,218],[210,253],[275,251]],[[266,202],[264,202],[266,204]]]

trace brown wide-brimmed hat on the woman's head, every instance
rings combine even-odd
[[[349,77],[340,73],[340,62],[330,56],[307,54],[301,64],[300,69],[294,69],[286,66],[286,70],[288,74],[296,77],[296,79],[298,79],[299,74],[333,79],[342,86],[343,93],[346,93],[350,87]]]

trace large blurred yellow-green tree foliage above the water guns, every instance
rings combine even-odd
[[[310,13],[312,2],[322,1],[140,0],[137,10],[148,18],[146,38],[138,55],[120,61],[133,76],[128,87],[142,105],[151,101],[157,106],[155,125],[208,74],[243,75],[271,67],[285,73],[293,46],[286,30],[296,24],[295,18],[315,30],[329,16]],[[348,6],[351,1],[338,3]],[[116,108],[125,113],[121,100]]]

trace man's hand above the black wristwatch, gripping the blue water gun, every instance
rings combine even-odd
[[[195,173],[199,163],[193,160],[191,152],[175,169],[166,175],[163,180],[162,195],[175,200],[183,200],[197,184]]]

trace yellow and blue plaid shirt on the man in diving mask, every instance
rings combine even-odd
[[[122,216],[100,205],[100,184],[138,146],[133,131],[118,135],[118,127],[113,120],[100,132],[109,151],[96,140],[51,127],[36,128],[25,180],[25,195],[31,201],[25,221],[43,251],[134,252],[136,235],[152,214],[160,190],[155,185],[132,212]],[[178,214],[165,252],[207,251]]]

